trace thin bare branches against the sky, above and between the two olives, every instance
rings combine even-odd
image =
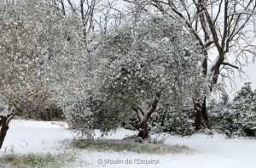
[[[86,45],[92,41],[91,32],[106,32],[108,27],[120,24],[123,11],[119,9],[117,2],[117,0],[49,0],[49,3],[64,17],[73,14],[80,20],[80,31]],[[86,49],[90,52],[89,48]]]

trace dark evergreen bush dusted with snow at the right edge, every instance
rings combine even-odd
[[[245,83],[245,86],[236,93],[232,103],[225,92],[218,103],[212,100],[208,107],[212,127],[224,132],[228,137],[255,136],[253,131],[253,127],[256,126],[255,95],[251,83]]]

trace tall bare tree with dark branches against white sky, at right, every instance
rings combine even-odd
[[[236,69],[242,72],[242,67],[255,58],[254,0],[151,0],[149,5],[186,23],[186,29],[195,36],[205,54],[202,73],[211,83],[210,92],[224,77],[229,77],[226,74]],[[195,99],[196,130],[210,126],[206,99],[207,96]]]

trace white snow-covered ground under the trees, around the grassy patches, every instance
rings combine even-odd
[[[137,132],[119,129],[108,136],[122,139]],[[96,132],[96,137],[99,137]],[[167,144],[183,144],[193,152],[183,154],[137,154],[130,152],[96,152],[72,148],[69,142],[73,134],[65,123],[31,120],[13,120],[3,143],[0,157],[4,154],[75,154],[75,162],[69,167],[163,167],[163,168],[255,168],[256,140],[225,139],[223,135],[192,137],[169,136]],[[148,165],[141,160],[151,160]],[[109,163],[118,160],[118,164]],[[115,162],[116,163],[116,162]],[[3,165],[2,165],[3,166]],[[0,166],[1,167],[1,166]]]

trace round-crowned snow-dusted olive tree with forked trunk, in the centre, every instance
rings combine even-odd
[[[127,20],[102,36],[95,53],[102,64],[97,70],[96,98],[120,116],[134,110],[140,120],[138,136],[144,139],[148,120],[159,103],[172,100],[181,107],[185,98],[207,85],[201,85],[201,48],[183,29],[183,22],[168,16],[136,21]]]

